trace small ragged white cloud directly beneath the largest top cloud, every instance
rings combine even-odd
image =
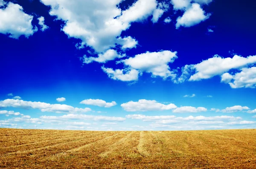
[[[115,50],[113,49],[109,49],[108,51],[106,51],[103,54],[98,54],[98,57],[87,57],[86,55],[84,55],[83,57],[83,63],[91,63],[93,61],[95,62],[99,62],[99,63],[106,63],[110,60],[114,60],[116,58],[122,58],[125,55],[120,55],[118,54]]]

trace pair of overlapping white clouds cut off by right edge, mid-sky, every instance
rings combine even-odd
[[[253,64],[256,64],[256,56],[242,57],[234,55],[233,58],[223,58],[215,55],[198,64],[183,66],[181,76],[176,78],[174,82],[199,81],[220,76],[221,82],[229,84],[232,88],[255,88],[256,67],[251,67]],[[230,74],[230,71],[236,73],[231,72]]]

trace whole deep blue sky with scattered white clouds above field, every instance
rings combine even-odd
[[[0,128],[256,128],[255,8],[0,0]]]

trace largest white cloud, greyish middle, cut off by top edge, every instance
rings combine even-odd
[[[96,52],[104,52],[115,47],[122,31],[128,29],[132,22],[140,22],[157,8],[156,0],[137,0],[124,11],[118,7],[122,0],[41,0],[51,7],[49,12],[64,20],[62,31],[69,37],[81,39],[84,45]]]

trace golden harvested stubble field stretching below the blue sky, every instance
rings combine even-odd
[[[0,168],[256,169],[256,130],[0,129]]]

